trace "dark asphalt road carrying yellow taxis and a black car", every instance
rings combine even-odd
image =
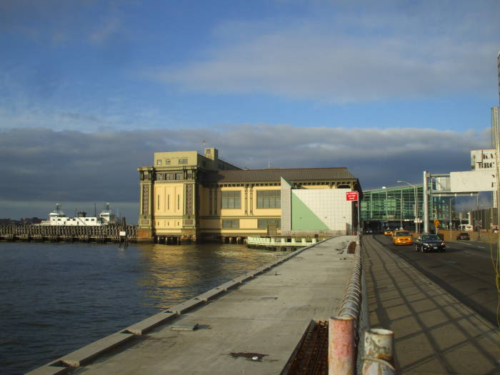
[[[365,235],[369,236],[369,235]],[[481,241],[447,241],[446,252],[421,253],[415,246],[392,244],[390,236],[374,235],[374,239],[398,254],[436,284],[476,311],[494,326],[499,293],[490,244]]]

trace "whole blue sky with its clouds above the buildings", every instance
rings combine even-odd
[[[363,189],[470,170],[499,105],[500,1],[1,0],[0,218],[136,222],[155,151],[346,166]]]

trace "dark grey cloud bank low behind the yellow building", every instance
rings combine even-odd
[[[469,149],[489,146],[481,134],[434,129],[298,128],[236,125],[214,130],[0,132],[0,201],[124,201],[138,199],[138,166],[155,151],[214,146],[237,166],[346,166],[364,189],[419,182],[424,170],[469,169]],[[1,214],[0,214],[1,216]]]

